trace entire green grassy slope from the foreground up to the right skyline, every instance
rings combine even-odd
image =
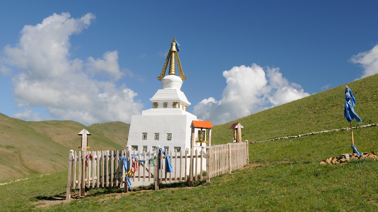
[[[349,86],[357,100],[355,111],[363,124],[376,123],[378,75],[351,82]],[[343,117],[344,88],[342,85],[214,126],[212,143],[228,143],[231,140],[228,128],[234,122],[242,123],[243,140],[249,141],[348,127]],[[353,126],[357,125],[353,122]],[[378,152],[378,127],[359,128],[353,133],[360,152]],[[34,175],[29,180],[1,186],[0,210],[378,211],[377,160],[319,164],[328,157],[351,152],[349,131],[265,141],[249,144],[248,166],[212,178],[206,186],[137,190],[127,194],[120,194],[121,189],[116,188],[91,189],[87,197],[70,203],[58,200],[66,191],[66,171]]]

